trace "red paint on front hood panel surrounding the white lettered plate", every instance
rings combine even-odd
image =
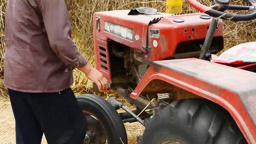
[[[143,46],[147,46],[148,24],[153,20],[153,18],[147,16],[128,16],[127,14],[128,11],[96,12],[94,14],[94,28],[96,28],[96,18],[100,18],[101,23],[100,32],[97,32],[96,29],[94,29],[94,35],[100,40],[115,40],[118,43],[146,52]],[[140,36],[140,40],[135,40],[134,38],[133,42],[131,42],[124,38],[115,36],[112,33],[104,32],[104,21],[133,29],[134,36]]]

